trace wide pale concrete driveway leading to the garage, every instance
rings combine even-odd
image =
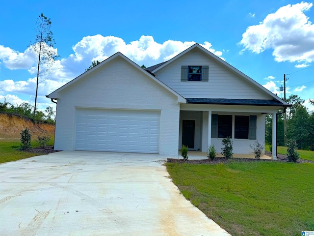
[[[185,200],[166,156],[62,151],[0,165],[0,235],[229,235]]]

